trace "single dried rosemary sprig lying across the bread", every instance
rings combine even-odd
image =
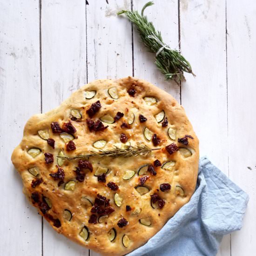
[[[153,150],[160,150],[161,148],[148,148],[146,145],[142,146],[127,146],[126,148],[118,148],[114,146],[112,149],[108,150],[99,150],[99,151],[90,151],[90,153],[83,154],[83,155],[76,155],[76,156],[60,156],[57,155],[58,158],[65,159],[65,160],[75,160],[81,158],[89,158],[91,156],[97,157],[132,157],[138,155],[148,155]]]

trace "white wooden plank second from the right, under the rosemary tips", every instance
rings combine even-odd
[[[185,74],[182,105],[199,135],[200,155],[228,175],[225,1],[181,0],[180,26],[182,54],[196,74]],[[230,236],[218,255],[230,255]]]

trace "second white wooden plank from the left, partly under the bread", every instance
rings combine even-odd
[[[85,1],[44,0],[41,7],[43,112],[57,107],[86,83]],[[61,246],[60,246],[61,245]],[[44,255],[88,255],[44,221]]]

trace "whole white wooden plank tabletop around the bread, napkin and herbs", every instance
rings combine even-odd
[[[93,255],[54,232],[29,205],[10,161],[27,119],[57,107],[99,78],[146,79],[182,103],[201,155],[250,196],[243,229],[225,236],[219,256],[256,253],[256,2],[155,0],[146,14],[196,78],[163,81],[125,8],[146,0],[0,0],[0,255]]]

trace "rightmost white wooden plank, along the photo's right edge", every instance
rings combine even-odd
[[[243,228],[231,235],[232,256],[256,251],[255,17],[255,1],[227,1],[229,174],[250,197]]]

